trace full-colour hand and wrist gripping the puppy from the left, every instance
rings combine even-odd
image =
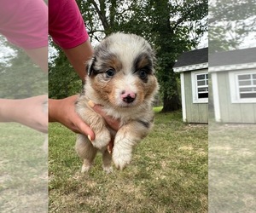
[[[78,95],[61,100],[49,99],[49,122],[59,122],[75,133],[88,135],[93,141],[95,139],[94,132],[75,111],[77,99]]]

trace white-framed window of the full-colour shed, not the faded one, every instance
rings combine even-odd
[[[208,73],[191,72],[193,103],[208,102]]]

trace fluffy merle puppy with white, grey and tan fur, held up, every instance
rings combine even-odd
[[[87,72],[76,111],[94,130],[96,138],[90,141],[84,135],[77,137],[76,151],[84,161],[82,172],[90,170],[97,150],[102,152],[103,170],[112,171],[112,159],[115,166],[123,170],[131,162],[132,148],[148,135],[153,125],[152,101],[159,87],[154,76],[153,49],[143,37],[112,34],[96,47]],[[120,120],[117,132],[90,108],[90,100]],[[107,146],[112,138],[111,155]]]

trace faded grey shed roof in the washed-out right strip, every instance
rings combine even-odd
[[[209,55],[209,66],[226,66],[256,62],[256,48],[237,49]]]

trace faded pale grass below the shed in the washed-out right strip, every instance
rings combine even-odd
[[[255,212],[256,125],[209,128],[209,210]]]

